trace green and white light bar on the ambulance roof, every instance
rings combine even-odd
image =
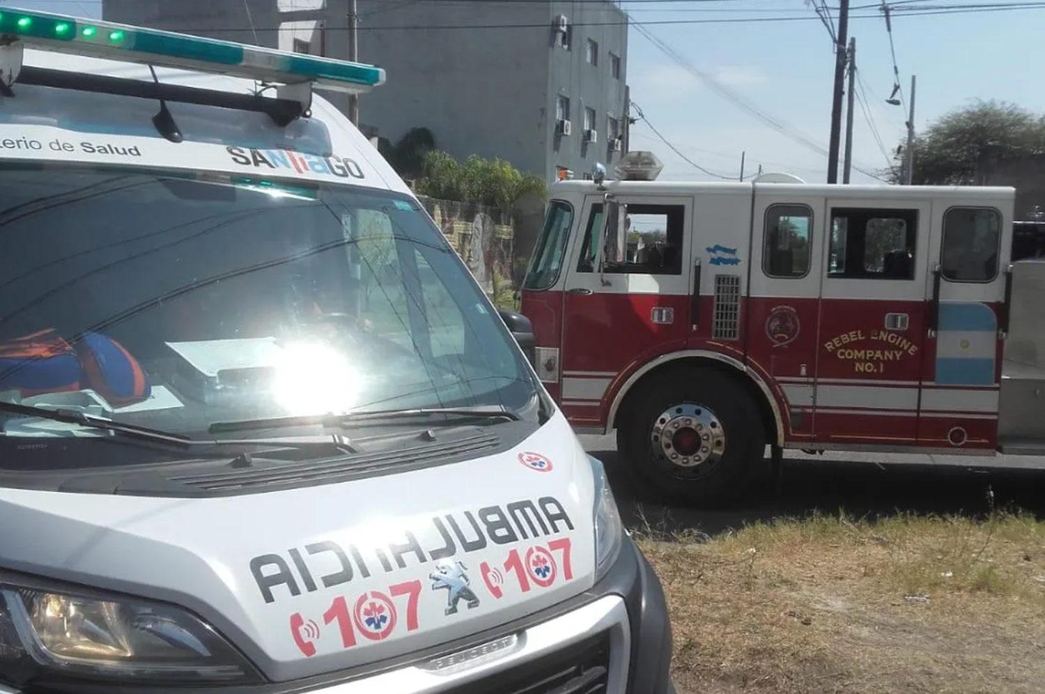
[[[291,86],[310,84],[339,92],[361,93],[385,84],[385,70],[373,65],[113,22],[0,7],[0,46],[14,42],[61,53]]]

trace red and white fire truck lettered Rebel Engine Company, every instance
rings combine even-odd
[[[661,168],[632,152],[552,186],[520,310],[575,430],[616,430],[704,507],[767,445],[777,469],[785,448],[1045,454],[1045,259],[1013,261],[1014,188]]]

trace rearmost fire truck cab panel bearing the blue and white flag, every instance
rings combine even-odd
[[[998,424],[1005,300],[1003,221],[1009,210],[970,199],[936,212],[939,232],[929,268],[925,383],[919,442],[933,447],[993,448]],[[1007,218],[1006,218],[1007,217]]]

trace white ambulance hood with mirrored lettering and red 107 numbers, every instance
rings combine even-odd
[[[19,530],[0,565],[188,609],[286,680],[590,587],[594,495],[557,413],[505,453],[343,484],[203,500],[3,489],[0,527]]]

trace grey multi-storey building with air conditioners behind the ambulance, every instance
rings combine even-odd
[[[458,159],[577,178],[625,148],[627,16],[611,0],[357,0],[358,55],[388,82],[359,97],[391,142],[432,131]],[[107,20],[347,57],[345,0],[103,0]],[[329,96],[347,110],[342,95]]]

